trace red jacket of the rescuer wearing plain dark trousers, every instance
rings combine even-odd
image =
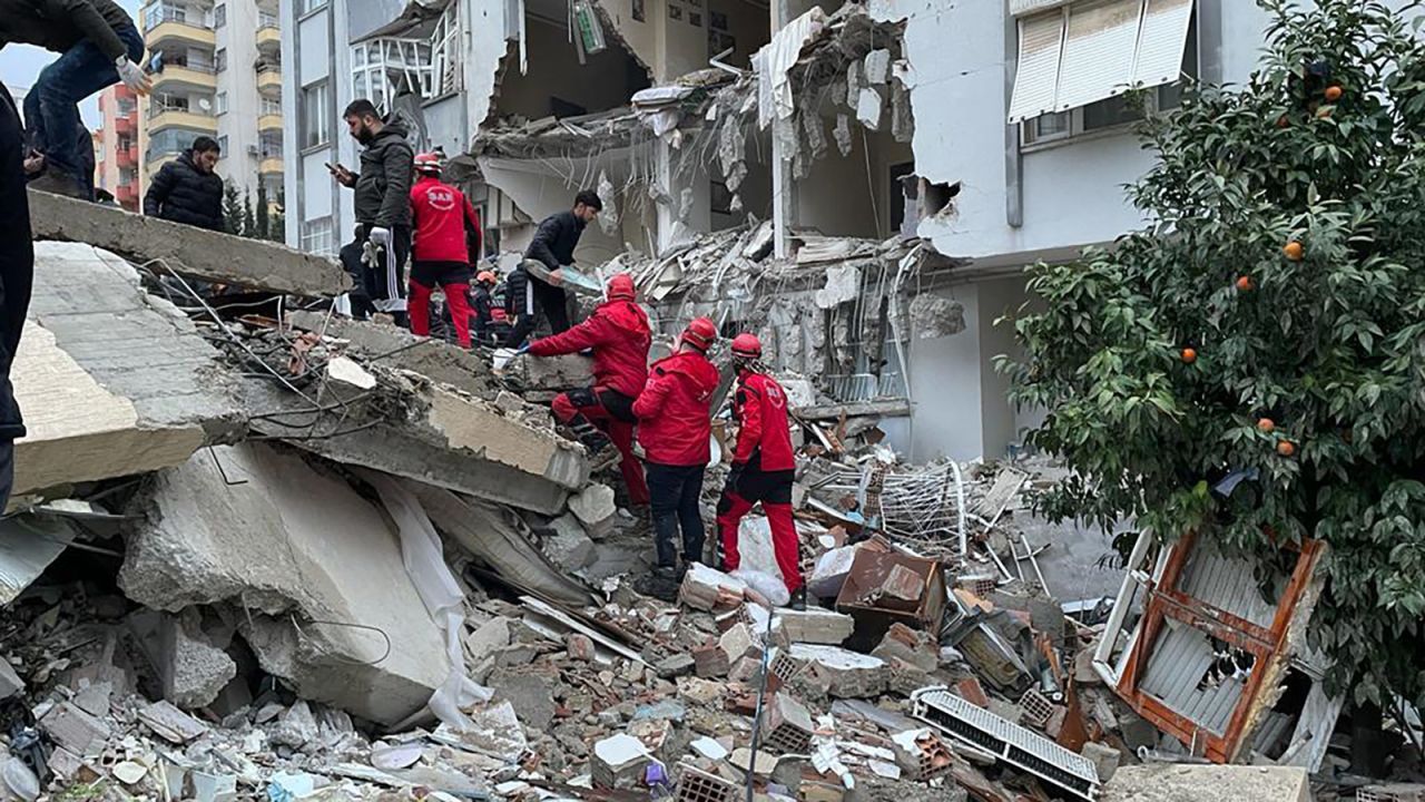
[[[712,458],[708,407],[718,384],[717,368],[703,354],[684,351],[653,362],[648,387],[633,404],[638,444],[658,465],[707,465]]]

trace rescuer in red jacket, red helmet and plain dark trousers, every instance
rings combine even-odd
[[[634,401],[638,444],[648,464],[648,495],[653,508],[654,544],[658,565],[634,589],[664,601],[678,595],[678,582],[693,562],[703,562],[703,472],[712,458],[710,407],[720,374],[708,361],[717,341],[717,325],[705,317],[693,318],[678,338],[678,350],[650,368],[648,385]],[[674,535],[683,529],[683,564],[677,561]]]

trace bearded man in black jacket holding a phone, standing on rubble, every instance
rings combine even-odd
[[[356,190],[356,240],[341,253],[342,265],[362,290],[352,293],[352,314],[366,320],[370,311],[389,313],[398,325],[408,325],[405,268],[416,154],[406,141],[406,128],[383,121],[369,100],[353,100],[342,117],[351,136],[365,146],[361,173],[329,166],[342,186]]]

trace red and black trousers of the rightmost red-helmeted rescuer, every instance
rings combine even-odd
[[[762,502],[762,512],[772,528],[772,551],[777,554],[777,568],[788,592],[802,587],[801,541],[797,539],[797,524],[792,521],[792,479],[795,471],[762,471],[752,458],[742,468],[735,482],[722,488],[717,505],[717,527],[722,538],[722,567],[737,571],[741,555],[737,551],[737,528],[752,507]]]

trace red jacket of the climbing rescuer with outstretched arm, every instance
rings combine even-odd
[[[594,350],[594,387],[637,398],[648,381],[648,315],[633,301],[600,304],[589,320],[553,337],[530,342],[530,354],[557,357]]]

